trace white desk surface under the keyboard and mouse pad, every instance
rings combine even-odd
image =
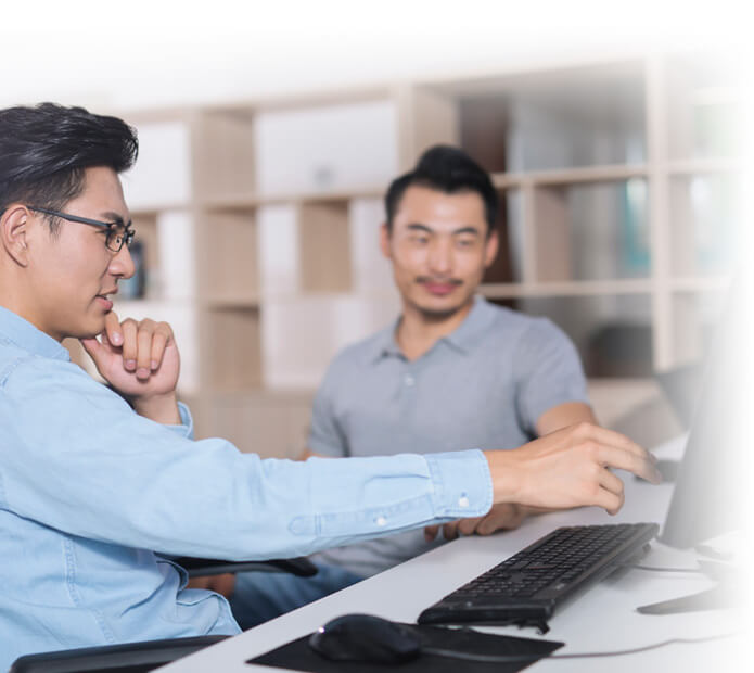
[[[559,525],[622,521],[662,523],[672,486],[652,486],[630,475],[621,477],[626,484],[626,505],[616,517],[610,517],[597,508],[584,508],[533,517],[516,531],[487,537],[459,538],[337,594],[164,666],[161,671],[280,671],[281,669],[248,665],[244,662],[311,633],[330,619],[348,612],[368,612],[397,621],[416,622],[425,607]],[[643,563],[688,568],[694,566],[694,560],[692,551],[679,551],[654,542]],[[519,630],[513,626],[489,627],[484,631],[562,640],[566,646],[559,653],[619,650],[670,638],[694,638],[740,631],[741,625],[737,623],[733,611],[713,610],[663,617],[642,615],[635,611],[637,606],[683,596],[712,585],[703,575],[627,569],[614,573],[565,606],[550,621],[551,631],[546,636],[539,636],[533,628]],[[608,666],[611,673],[636,670],[745,670],[741,668],[744,640],[744,637],[737,637],[703,644],[674,644],[648,652],[611,658],[541,660],[534,664],[534,670],[544,673],[602,673]],[[462,670],[462,664],[459,666]]]

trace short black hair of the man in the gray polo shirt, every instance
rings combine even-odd
[[[387,188],[385,212],[388,231],[404,193],[411,185],[429,187],[446,194],[476,192],[484,202],[487,236],[495,229],[498,195],[487,173],[462,150],[434,145],[426,150],[413,170],[397,177]]]

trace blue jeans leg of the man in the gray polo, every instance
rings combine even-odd
[[[362,580],[337,566],[318,563],[317,568],[319,572],[314,577],[278,572],[239,573],[229,601],[241,628],[261,624]]]

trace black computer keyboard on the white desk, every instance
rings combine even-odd
[[[517,624],[548,631],[555,608],[642,556],[656,523],[561,528],[448,594],[420,624]]]

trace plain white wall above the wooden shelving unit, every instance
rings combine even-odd
[[[0,105],[135,109],[446,76],[648,47],[737,47],[745,3],[7,2]]]

